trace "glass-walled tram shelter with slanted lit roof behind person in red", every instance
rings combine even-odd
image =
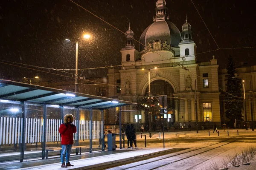
[[[73,123],[77,127],[74,145],[89,143],[91,153],[93,139],[102,139],[104,143],[104,111],[120,107],[121,118],[121,106],[131,104],[118,99],[0,79],[0,161],[20,159],[23,162],[33,157],[44,159],[48,147],[61,147],[58,127],[67,113],[74,116]],[[24,152],[28,150],[37,150],[37,154],[26,156]],[[8,156],[1,157],[6,153]]]

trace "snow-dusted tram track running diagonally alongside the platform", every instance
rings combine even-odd
[[[218,142],[218,143],[215,143],[215,144],[211,144],[211,145],[208,145],[208,146],[205,146],[205,147],[200,147],[200,148],[193,149],[193,150],[186,150],[186,151],[184,150],[184,151],[180,151],[180,153],[177,153],[177,154],[170,153],[171,155],[167,154],[167,155],[164,155],[164,156],[159,156],[159,157],[156,157],[156,158],[152,158],[151,161],[146,161],[145,163],[137,164],[137,165],[130,166],[130,167],[127,167],[127,168],[119,167],[119,170],[141,169],[140,166],[143,166],[143,165],[145,166],[147,164],[148,165],[150,164],[150,166],[151,166],[151,168],[149,168],[147,170],[154,170],[154,169],[157,169],[157,168],[160,168],[160,167],[164,167],[164,166],[169,165],[169,164],[173,164],[173,163],[177,163],[179,161],[183,161],[183,160],[191,158],[193,156],[198,156],[198,155],[200,155],[202,153],[206,153],[206,152],[208,152],[210,150],[214,150],[214,149],[217,149],[219,147],[222,147],[222,146],[225,146],[227,144],[230,144],[232,142],[236,142],[237,140],[242,139],[242,138],[244,138],[244,137],[237,137],[236,136],[236,137],[229,138],[227,140],[224,140],[224,141],[221,141],[221,142]],[[232,140],[232,141],[230,141],[230,140]],[[230,141],[230,142],[227,142],[227,141]],[[221,144],[221,143],[224,143],[224,142],[227,142],[227,143]],[[216,147],[212,147],[214,145],[217,145],[217,146]],[[212,148],[209,148],[209,149],[205,150],[205,148],[207,148],[207,147],[212,147]],[[200,151],[200,150],[202,150],[202,151]],[[193,152],[195,152],[195,153],[193,153]],[[188,153],[190,153],[189,156],[184,156],[185,154],[188,154]],[[175,161],[171,161],[171,162],[163,164],[163,161],[165,161],[166,159],[169,159],[169,158],[172,158],[172,157],[175,158],[177,156],[184,156],[184,157],[180,158],[180,159],[177,159]],[[160,165],[159,166],[153,166],[153,165],[156,164],[157,161],[160,161]],[[154,164],[152,164],[152,163],[154,163]]]

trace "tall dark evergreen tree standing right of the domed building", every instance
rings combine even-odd
[[[228,119],[231,121],[242,120],[242,108],[243,108],[243,99],[242,99],[242,85],[241,79],[236,77],[236,66],[233,61],[233,57],[229,56],[227,62],[227,80],[226,91],[229,94],[225,94],[225,114]]]

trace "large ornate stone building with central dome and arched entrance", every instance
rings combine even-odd
[[[139,121],[152,130],[159,130],[162,121],[167,128],[195,127],[197,103],[200,127],[220,125],[217,60],[197,63],[192,26],[187,17],[182,27],[175,26],[166,5],[165,0],[157,0],[156,15],[141,34],[139,49],[134,46],[136,33],[129,26],[121,49],[122,68],[108,71],[108,96],[137,103],[124,108],[123,124]],[[168,99],[164,113],[159,108],[160,95]]]

